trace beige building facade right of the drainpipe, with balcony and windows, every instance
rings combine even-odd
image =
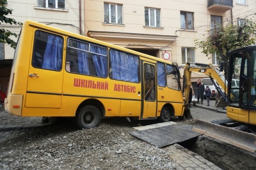
[[[195,49],[195,40],[205,40],[207,30],[220,24],[252,18],[256,9],[252,0],[85,0],[84,4],[87,36],[181,67],[186,62],[218,65],[218,56],[202,54],[202,49]]]

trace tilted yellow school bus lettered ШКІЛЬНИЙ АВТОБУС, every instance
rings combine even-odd
[[[170,121],[183,116],[175,63],[27,20],[17,41],[6,111],[74,117],[79,128],[106,117]]]

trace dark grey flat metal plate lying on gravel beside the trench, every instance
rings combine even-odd
[[[174,143],[180,143],[201,135],[192,130],[192,125],[176,123],[165,127],[150,128],[131,132],[130,134],[157,148],[163,148]]]

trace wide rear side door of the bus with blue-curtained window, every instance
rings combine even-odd
[[[61,107],[63,42],[62,36],[35,31],[25,107]]]

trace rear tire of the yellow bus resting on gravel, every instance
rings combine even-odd
[[[100,111],[93,105],[82,107],[76,115],[76,125],[79,128],[93,128],[100,124]]]

